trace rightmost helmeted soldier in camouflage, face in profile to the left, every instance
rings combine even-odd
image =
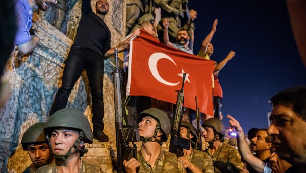
[[[234,146],[224,143],[225,127],[218,118],[210,118],[203,122],[204,139],[209,143],[208,153],[214,163],[215,172],[239,172],[244,167],[241,156]]]

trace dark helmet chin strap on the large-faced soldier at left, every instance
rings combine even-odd
[[[49,146],[50,146],[50,149],[51,149],[51,145],[50,145],[50,139],[49,137],[47,136],[47,139],[49,141]],[[81,131],[80,134],[79,134],[79,137],[78,139],[74,142],[73,146],[70,147],[69,151],[65,154],[65,155],[57,155],[57,154],[52,154],[53,157],[56,159],[56,160],[63,160],[65,161],[66,159],[68,159],[68,157],[74,153],[78,153],[78,152],[83,152],[83,153],[87,153],[88,150],[85,149],[85,147],[82,147],[82,149],[78,149],[78,146],[81,142],[83,142],[82,140],[84,139],[84,134],[83,132]],[[73,151],[71,151],[71,149],[74,149]],[[52,149],[51,149],[52,150]]]

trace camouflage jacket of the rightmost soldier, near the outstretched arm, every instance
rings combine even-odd
[[[241,168],[244,166],[238,150],[228,143],[221,142],[213,155],[211,155],[210,148],[206,149],[205,152],[212,157],[216,173],[239,172],[238,166]]]

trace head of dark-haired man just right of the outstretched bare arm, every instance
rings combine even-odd
[[[256,136],[251,139],[252,150],[257,154],[270,151],[272,144],[272,136],[269,136],[267,129],[259,129]]]

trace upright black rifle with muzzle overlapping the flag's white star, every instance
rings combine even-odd
[[[169,152],[175,153],[177,157],[183,156],[183,149],[189,149],[190,144],[189,140],[182,138],[180,135],[180,125],[182,120],[182,104],[184,103],[184,82],[185,76],[183,75],[183,83],[181,90],[176,90],[177,99],[176,99],[176,110],[175,115],[172,121],[172,129],[171,129],[171,140],[169,146]]]

